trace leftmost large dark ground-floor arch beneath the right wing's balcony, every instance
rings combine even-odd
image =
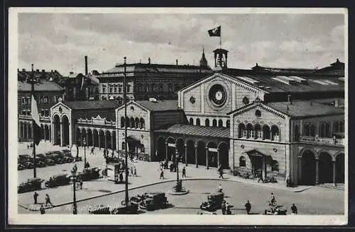
[[[315,185],[315,175],[315,153],[312,151],[305,151],[302,154],[302,184]]]

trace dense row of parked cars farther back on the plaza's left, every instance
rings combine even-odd
[[[31,169],[34,166],[34,158],[30,155],[19,155],[17,161],[17,170]],[[82,158],[72,156],[70,150],[67,149],[35,154],[35,163],[38,168],[72,163],[73,161],[82,161]]]

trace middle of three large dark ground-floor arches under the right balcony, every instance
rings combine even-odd
[[[318,176],[320,184],[333,182],[332,156],[327,152],[320,153]]]

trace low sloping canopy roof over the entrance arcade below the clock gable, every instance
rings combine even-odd
[[[167,132],[172,134],[190,134],[200,137],[228,138],[230,129],[226,127],[202,127],[187,124],[174,124],[167,129],[158,129],[155,132]]]

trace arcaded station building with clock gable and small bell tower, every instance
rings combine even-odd
[[[82,144],[222,166],[295,185],[344,182],[344,63],[327,69],[229,69],[214,50],[214,72],[181,88],[178,100],[60,102],[53,143]],[[337,71],[340,66],[340,71]],[[127,125],[128,144],[124,144]]]

